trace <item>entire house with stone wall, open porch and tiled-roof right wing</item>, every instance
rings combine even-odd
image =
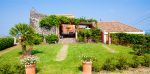
[[[111,36],[110,33],[129,33],[129,34],[145,34],[143,30],[137,29],[135,27],[117,22],[117,21],[100,21],[97,22],[80,22],[78,25],[73,24],[61,24],[59,29],[56,29],[56,26],[49,28],[42,28],[39,25],[40,20],[43,17],[48,15],[41,14],[36,10],[32,9],[30,11],[30,24],[35,29],[35,31],[39,34],[48,35],[48,34],[56,34],[59,38],[75,38],[77,40],[77,33],[80,29],[83,28],[96,28],[97,27],[102,31],[101,42],[105,44],[111,44]],[[57,14],[57,16],[66,16],[69,18],[74,18],[71,14]]]

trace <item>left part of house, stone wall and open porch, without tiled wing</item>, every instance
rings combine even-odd
[[[56,16],[66,16],[69,18],[74,18],[72,14],[55,14]],[[48,34],[56,34],[60,38],[71,37],[77,39],[77,31],[83,28],[94,28],[96,27],[96,23],[94,22],[81,22],[79,25],[74,24],[61,24],[59,27],[53,26],[51,28],[42,28],[39,25],[40,20],[43,17],[48,15],[41,14],[37,12],[35,9],[30,11],[30,24],[35,29],[35,31],[39,34],[48,35]],[[59,28],[59,29],[56,29]]]

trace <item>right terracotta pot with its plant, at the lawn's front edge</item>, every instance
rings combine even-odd
[[[92,59],[91,56],[82,56],[82,74],[92,74]]]

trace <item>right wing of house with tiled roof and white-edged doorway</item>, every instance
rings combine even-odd
[[[105,44],[111,44],[110,33],[128,33],[128,34],[145,34],[143,30],[137,29],[135,27],[117,22],[109,21],[98,22],[98,28],[101,29],[101,42]]]

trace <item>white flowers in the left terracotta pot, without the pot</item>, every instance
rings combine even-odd
[[[38,58],[36,56],[25,56],[23,59],[21,59],[21,63],[25,65],[31,65],[37,63]]]

